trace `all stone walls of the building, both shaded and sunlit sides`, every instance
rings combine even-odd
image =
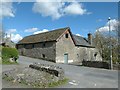
[[[68,34],[68,38],[66,38]],[[50,60],[56,63],[65,63],[65,54],[68,54],[68,63],[82,61],[102,61],[96,48],[75,46],[69,31],[66,31],[57,42],[43,42],[30,45],[19,45],[21,55]]]

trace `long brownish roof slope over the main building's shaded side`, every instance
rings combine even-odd
[[[28,43],[37,43],[37,42],[46,42],[46,41],[55,41],[61,34],[63,34],[69,27],[60,28],[49,32],[39,33],[35,35],[30,35],[23,38],[18,44],[28,44]]]

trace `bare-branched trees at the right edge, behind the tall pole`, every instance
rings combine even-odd
[[[115,33],[118,31],[116,30]],[[117,34],[116,34],[117,35]],[[112,57],[113,57],[113,63],[120,62],[118,55],[120,54],[118,52],[120,46],[118,46],[118,37],[116,35],[111,36],[111,40],[109,38],[108,34],[104,34],[100,31],[96,31],[93,37],[93,41],[95,43],[96,48],[99,49],[99,52],[103,58],[103,61],[110,60],[110,42],[112,43]]]

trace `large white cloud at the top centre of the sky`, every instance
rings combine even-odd
[[[36,0],[32,9],[35,13],[52,17],[52,19],[59,19],[65,15],[91,14],[91,12],[87,12],[87,10],[83,8],[82,4],[76,0],[73,1],[74,2],[65,2],[59,0],[57,2],[51,2],[50,0]]]

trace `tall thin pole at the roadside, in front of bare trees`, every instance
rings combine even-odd
[[[108,23],[109,23],[109,38],[110,38],[110,46],[109,46],[109,49],[110,49],[110,69],[113,69],[113,62],[112,62],[112,42],[111,42],[111,26],[110,26],[110,20],[111,18],[109,17],[108,18]]]

